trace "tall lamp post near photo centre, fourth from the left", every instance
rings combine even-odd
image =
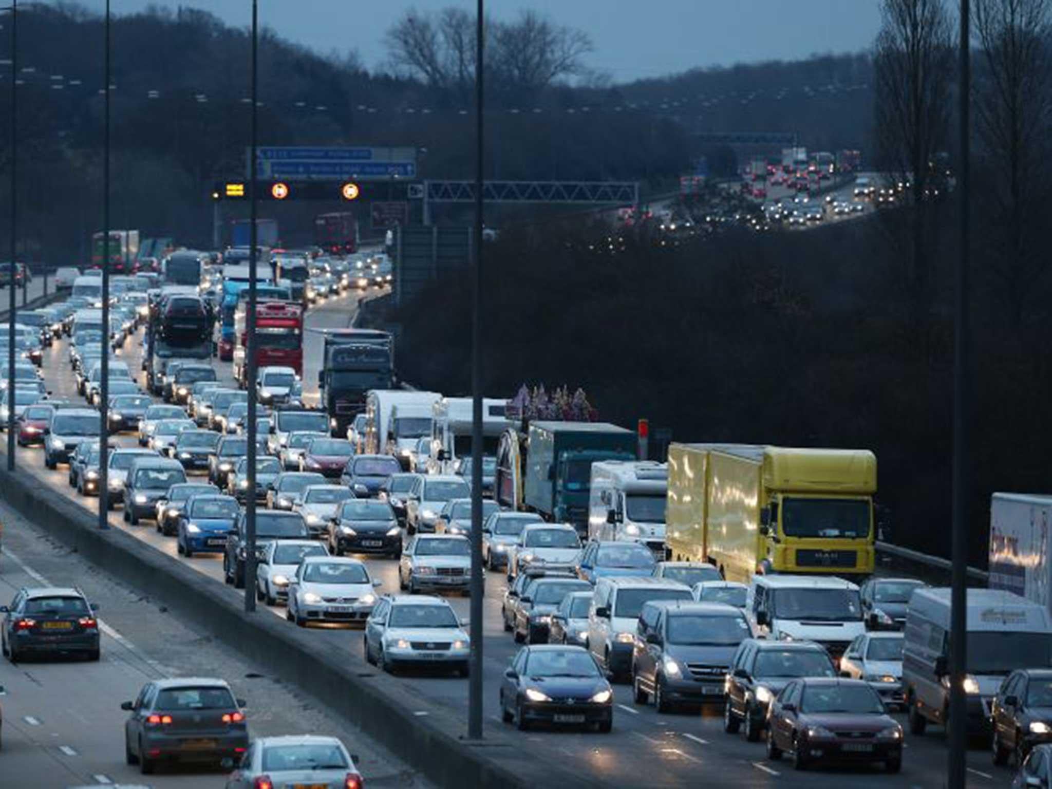
[[[476,9],[474,58],[474,266],[471,277],[471,663],[467,735],[482,739],[482,166],[484,0]]]

